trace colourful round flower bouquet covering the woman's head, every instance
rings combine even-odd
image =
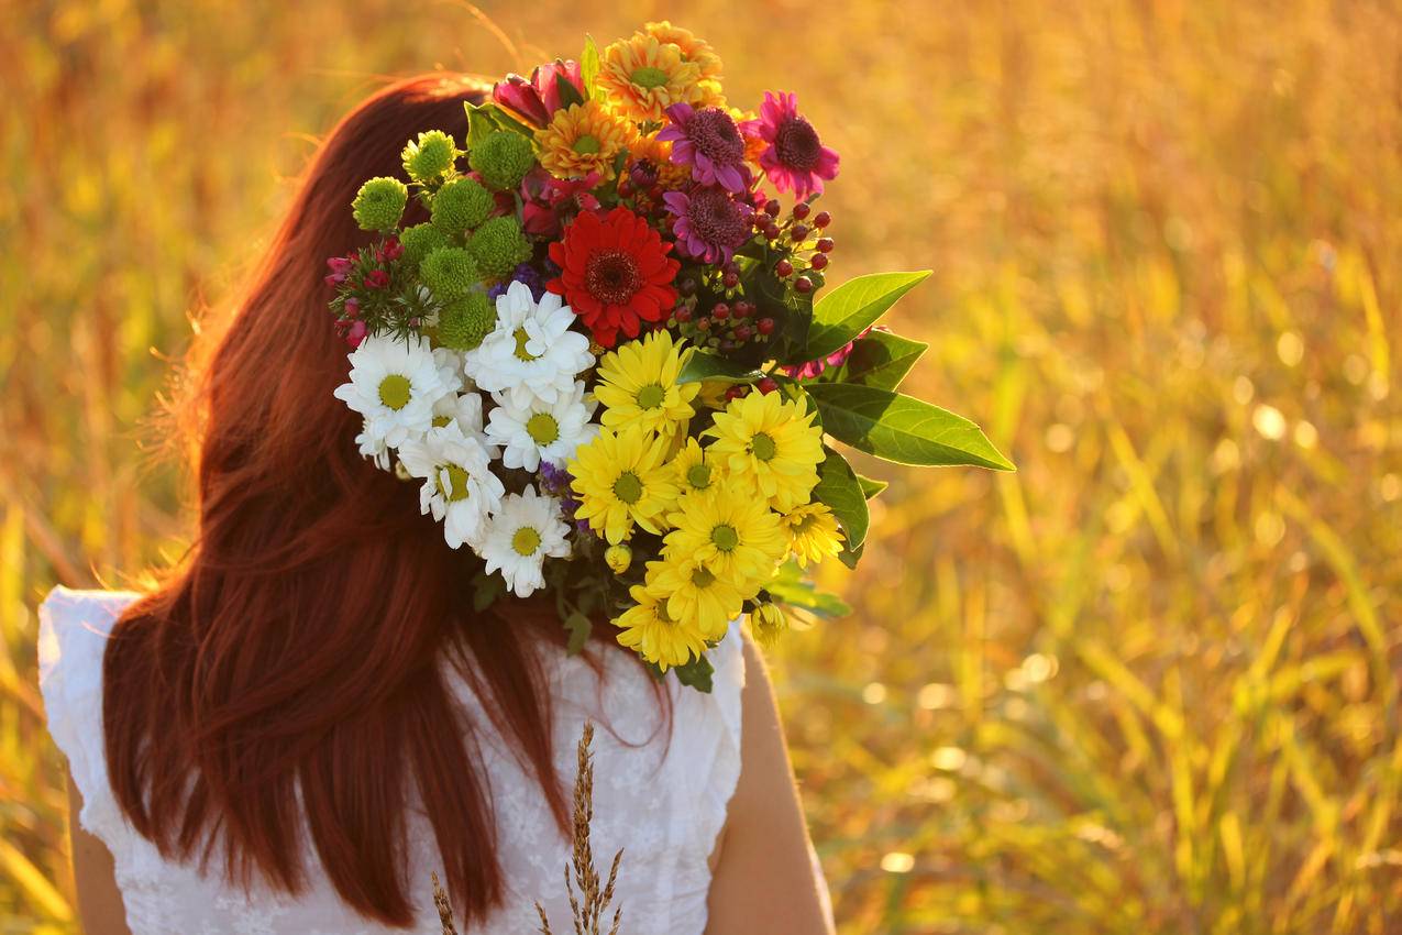
[[[857,565],[885,484],[834,444],[1011,470],[897,393],[925,345],[876,322],[928,271],[824,287],[838,156],[794,94],[733,108],[712,48],[658,22],[467,109],[465,140],[421,133],[360,188],[373,240],[327,280],[356,444],[421,485],[479,607],[545,589],[571,650],[608,620],[705,691],[742,613],[760,638],[841,613],[806,569]]]

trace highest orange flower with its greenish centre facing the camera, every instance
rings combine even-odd
[[[644,34],[604,49],[597,81],[610,102],[639,123],[662,123],[669,107],[700,104],[707,93],[700,64],[684,60],[677,45]]]

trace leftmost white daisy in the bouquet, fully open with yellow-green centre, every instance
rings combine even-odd
[[[335,397],[365,416],[365,430],[356,437],[360,453],[380,464],[386,449],[397,449],[429,430],[433,404],[456,390],[440,369],[423,338],[398,339],[374,335],[348,355],[350,383],[335,388]]]

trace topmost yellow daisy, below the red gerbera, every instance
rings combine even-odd
[[[691,349],[673,343],[667,331],[653,331],[610,350],[599,362],[594,398],[604,407],[601,422],[608,426],[638,425],[648,432],[672,436],[695,415],[701,385],[677,383]]]

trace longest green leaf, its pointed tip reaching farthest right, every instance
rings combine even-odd
[[[923,400],[850,383],[813,383],[823,430],[897,464],[970,464],[1014,471],[977,425]]]

